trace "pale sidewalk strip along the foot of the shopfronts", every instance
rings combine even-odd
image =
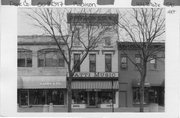
[[[164,107],[158,107],[159,112],[164,112]],[[43,112],[43,107],[20,107],[18,112]],[[67,112],[66,107],[54,106],[54,112]],[[86,109],[72,109],[72,112],[112,112],[112,108],[86,108]],[[139,112],[139,107],[121,107],[115,108],[114,112]],[[149,108],[145,107],[144,112],[149,112]]]

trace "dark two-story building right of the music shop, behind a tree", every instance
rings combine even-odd
[[[129,47],[124,52],[123,47]],[[152,48],[159,49],[147,63],[144,104],[164,105],[165,43],[154,42]],[[140,73],[131,61],[141,63],[140,53],[133,42],[118,42],[119,50],[119,103],[120,107],[138,106],[140,103]],[[131,61],[129,60],[131,59]]]

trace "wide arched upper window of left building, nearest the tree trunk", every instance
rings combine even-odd
[[[57,50],[41,50],[38,52],[38,67],[64,67],[62,54]]]

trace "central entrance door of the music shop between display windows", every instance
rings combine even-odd
[[[97,99],[96,99],[97,98],[96,97],[97,96],[97,92],[89,91],[88,93],[89,93],[88,94],[89,95],[89,97],[88,97],[89,98],[89,100],[88,100],[89,107],[96,107],[97,106],[97,104],[96,104],[97,103],[96,102],[97,101]]]

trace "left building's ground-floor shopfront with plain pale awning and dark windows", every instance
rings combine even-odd
[[[19,106],[38,106],[66,103],[65,76],[18,77]]]

